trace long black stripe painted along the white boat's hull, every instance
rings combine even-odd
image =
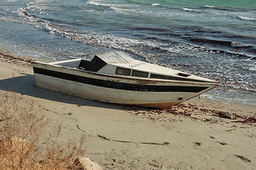
[[[59,79],[66,79],[70,81],[76,81],[82,84],[90,84],[94,86],[102,86],[111,89],[120,89],[128,91],[157,91],[157,92],[191,92],[198,93],[207,89],[205,86],[159,86],[159,85],[142,85],[142,84],[127,84],[116,81],[108,81],[102,79],[93,79],[89,77],[81,77],[78,75],[56,72],[49,69],[41,69],[38,67],[33,67],[33,71],[36,74],[43,74],[49,77],[56,77]]]

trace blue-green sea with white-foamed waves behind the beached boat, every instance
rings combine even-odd
[[[203,98],[256,106],[255,0],[0,0],[0,45],[55,61],[122,51],[219,81]]]

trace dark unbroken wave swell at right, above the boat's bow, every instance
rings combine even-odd
[[[201,47],[218,47],[221,49],[238,49],[249,52],[250,54],[255,54],[255,47],[251,44],[245,42],[250,40],[250,42],[255,42],[255,38],[249,38],[241,35],[233,35],[223,33],[221,31],[209,30],[201,27],[186,27],[178,29],[161,29],[161,28],[134,28],[137,33],[143,33],[143,38],[147,40],[156,40],[162,42],[163,44],[175,44],[176,42],[191,43],[193,45],[198,45]],[[186,41],[183,41],[186,40]],[[237,40],[237,41],[235,41]],[[166,50],[169,52],[168,50]],[[221,53],[221,52],[218,52]],[[223,52],[224,53],[224,52]],[[228,54],[228,52],[226,52]],[[231,54],[230,54],[231,55]],[[246,58],[255,59],[251,55],[236,54],[235,56],[243,56]]]

